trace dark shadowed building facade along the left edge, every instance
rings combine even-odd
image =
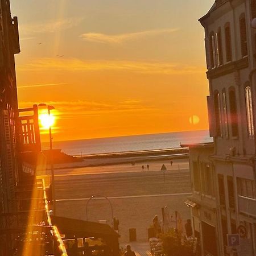
[[[18,115],[14,55],[19,53],[18,19],[0,1],[0,212],[16,210],[18,183],[15,119]]]

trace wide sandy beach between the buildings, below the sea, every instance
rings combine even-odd
[[[99,159],[90,160],[97,164]],[[115,163],[116,158],[100,160],[109,162],[55,170],[57,216],[106,220],[112,225],[110,205],[103,198],[90,201],[86,217],[86,203],[90,196],[106,196],[112,204],[114,216],[119,219],[119,241],[122,243],[129,242],[130,228],[136,229],[138,241],[147,241],[147,229],[152,225],[155,214],[162,218],[162,207],[168,207],[172,216],[177,210],[183,224],[189,218],[189,209],[184,204],[191,193],[187,158],[179,159],[178,156],[175,159],[172,156],[148,160],[141,157],[135,165],[130,159],[127,163],[118,164]],[[160,171],[163,164],[167,168],[164,176]]]

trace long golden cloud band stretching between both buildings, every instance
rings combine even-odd
[[[24,65],[18,71],[125,71],[137,73],[185,74],[201,73],[204,67],[161,61],[115,61],[42,58]]]

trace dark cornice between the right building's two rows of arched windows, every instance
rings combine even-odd
[[[240,69],[244,69],[249,67],[249,61],[248,57],[243,57],[241,60],[232,61],[230,63],[227,63],[225,65],[221,65],[218,68],[210,69],[207,71],[207,78],[208,79],[215,79],[220,76],[225,76],[230,73],[234,73],[235,71],[238,71]]]

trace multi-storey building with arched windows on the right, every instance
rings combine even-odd
[[[255,0],[216,0],[199,20],[213,143],[187,145],[193,193],[186,204],[201,255],[256,255],[254,18]]]

